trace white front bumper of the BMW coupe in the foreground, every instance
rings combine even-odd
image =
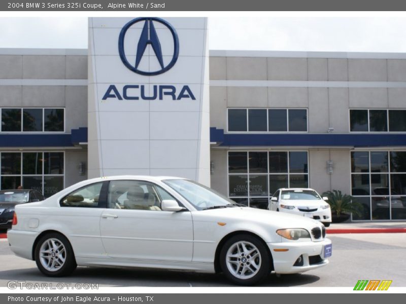
[[[329,244],[331,244],[329,239],[320,242],[267,243],[277,274],[296,274],[327,265],[328,259],[324,258],[324,247]],[[278,249],[288,250],[278,251]],[[299,256],[302,257],[302,265],[294,266]]]

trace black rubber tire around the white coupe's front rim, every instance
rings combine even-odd
[[[248,272],[251,271],[250,275],[253,275],[252,277],[248,278],[241,278],[241,276],[238,275],[234,275],[227,266],[227,252],[228,250],[230,250],[230,252],[232,252],[233,248],[235,248],[235,246],[238,246],[236,244],[238,244],[239,242],[247,242],[247,243],[251,243],[252,245],[254,245],[256,247],[256,249],[258,250],[259,253],[259,259],[260,259],[260,265],[258,270],[255,272],[251,271],[251,269],[249,269]],[[246,247],[246,248],[251,248],[251,250],[253,249],[253,247]],[[248,256],[250,258],[250,256]],[[240,259],[240,261],[238,261],[239,263],[242,262],[243,260]],[[248,264],[246,263],[245,265],[247,267],[252,267],[250,266],[250,259],[248,259]],[[258,258],[256,257],[255,260],[251,260],[251,263],[255,263],[258,262]],[[232,265],[230,265],[230,263],[228,263],[229,267],[233,267]],[[221,248],[220,251],[220,267],[221,270],[223,271],[224,275],[227,277],[228,280],[232,281],[233,283],[239,284],[239,285],[255,285],[260,283],[263,279],[265,279],[271,271],[271,265],[272,265],[272,256],[270,256],[268,250],[266,250],[265,245],[262,243],[262,241],[252,235],[249,234],[241,234],[241,235],[236,235],[231,237],[230,239],[228,239],[223,247]],[[238,267],[238,269],[236,269],[236,267]],[[237,273],[240,272],[240,267],[242,266],[236,266],[235,269],[233,269],[234,271],[236,271]]]

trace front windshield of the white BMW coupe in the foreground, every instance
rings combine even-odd
[[[166,179],[165,184],[173,188],[197,210],[238,206],[235,202],[214,190],[187,179]]]

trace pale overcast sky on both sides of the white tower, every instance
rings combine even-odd
[[[87,48],[87,18],[0,18],[1,48]],[[406,52],[406,18],[210,17],[211,50]]]

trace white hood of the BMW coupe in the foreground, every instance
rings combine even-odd
[[[193,219],[206,221],[250,221],[265,225],[272,224],[273,226],[281,228],[306,228],[308,230],[311,230],[315,226],[321,226],[319,221],[308,217],[249,207],[230,207],[196,211],[193,213]]]

